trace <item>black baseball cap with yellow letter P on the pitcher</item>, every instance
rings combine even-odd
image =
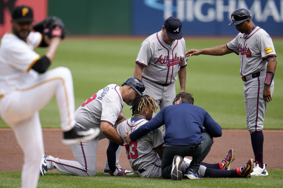
[[[33,21],[33,10],[29,6],[17,6],[12,11],[12,19],[16,22]]]

